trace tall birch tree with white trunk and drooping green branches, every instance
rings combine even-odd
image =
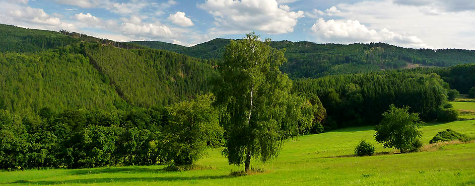
[[[215,90],[225,112],[221,124],[226,131],[223,154],[230,164],[244,164],[251,158],[266,162],[277,157],[285,129],[295,129],[285,121],[292,81],[279,70],[287,59],[285,49],[273,49],[270,40],[259,41],[254,33],[226,47],[218,64],[221,81]]]

